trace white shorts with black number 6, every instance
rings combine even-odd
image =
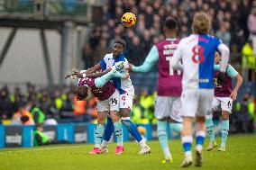
[[[219,105],[221,105],[222,111],[230,112],[232,111],[233,100],[230,97],[215,97],[212,105],[213,110],[217,110]]]

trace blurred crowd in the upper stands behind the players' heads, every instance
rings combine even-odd
[[[105,0],[100,17],[93,17],[95,25],[83,48],[85,67],[92,67],[111,51],[116,37],[127,42],[126,58],[140,65],[151,46],[164,39],[162,25],[166,17],[172,16],[178,21],[178,36],[183,38],[191,33],[193,15],[199,10],[208,13],[212,21],[211,34],[223,40],[232,53],[239,54],[232,58],[233,64],[255,72],[256,49],[252,52],[252,41],[256,38],[255,0]],[[125,28],[120,22],[125,12],[136,15],[137,24],[133,28]],[[253,72],[246,72],[244,76],[254,81]]]

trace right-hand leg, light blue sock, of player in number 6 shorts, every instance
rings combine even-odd
[[[225,143],[228,136],[229,131],[229,112],[223,112],[222,115],[222,144],[218,151],[225,151]]]

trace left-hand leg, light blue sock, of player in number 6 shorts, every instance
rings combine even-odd
[[[214,130],[214,122],[212,120],[212,113],[210,115],[206,115],[206,130],[208,133],[208,137],[210,139],[209,145],[206,148],[207,151],[212,150],[217,147],[217,143],[215,141],[215,130]]]

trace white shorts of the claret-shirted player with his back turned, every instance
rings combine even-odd
[[[170,117],[174,121],[181,122],[181,102],[180,97],[156,96],[155,117],[158,120]]]

